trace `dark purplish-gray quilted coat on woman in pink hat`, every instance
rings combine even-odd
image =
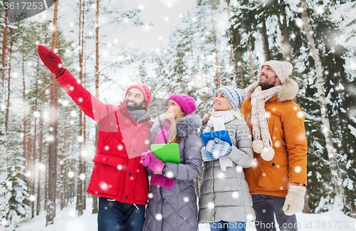
[[[150,134],[151,143],[161,128],[162,120],[153,124]],[[201,170],[201,148],[203,144],[197,129],[201,119],[196,114],[177,120],[177,135],[183,138],[179,145],[180,163],[166,163],[167,173],[173,175],[174,187],[163,188],[151,185],[150,199],[146,209],[142,230],[198,230],[197,195],[194,191],[194,178]],[[162,219],[161,218],[162,215]]]

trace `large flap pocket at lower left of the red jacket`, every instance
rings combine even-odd
[[[120,181],[125,175],[127,160],[96,154],[93,162],[95,164],[88,190],[95,193],[117,195]]]

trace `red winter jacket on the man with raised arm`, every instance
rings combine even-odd
[[[120,202],[147,205],[149,186],[140,156],[150,149],[152,123],[140,123],[128,113],[125,102],[105,105],[66,72],[57,78],[68,96],[99,125],[94,169],[87,193]]]

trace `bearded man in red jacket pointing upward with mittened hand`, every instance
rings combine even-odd
[[[98,230],[141,230],[149,186],[140,162],[150,149],[150,89],[142,83],[127,88],[120,106],[105,105],[63,68],[61,58],[44,46],[38,55],[68,96],[99,125],[93,174],[87,193],[99,196]]]

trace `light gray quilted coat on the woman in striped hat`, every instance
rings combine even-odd
[[[201,132],[206,127],[202,125]],[[253,163],[251,131],[244,120],[225,123],[232,141],[232,151],[226,155],[233,167],[221,171],[219,160],[204,162],[199,196],[199,223],[224,220],[246,222],[255,220],[252,197],[243,168]]]

